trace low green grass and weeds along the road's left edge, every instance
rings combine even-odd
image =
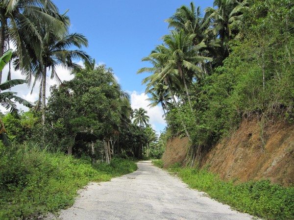
[[[49,153],[37,145],[0,148],[0,220],[35,219],[71,206],[89,181],[109,181],[137,170],[129,160],[110,165]]]

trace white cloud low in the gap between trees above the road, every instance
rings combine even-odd
[[[156,130],[156,133],[159,134],[159,131],[166,125],[166,122],[162,118],[164,113],[159,106],[150,108],[148,105],[151,102],[146,100],[147,98],[148,96],[145,93],[138,93],[137,91],[131,92],[131,107],[133,109],[139,109],[141,107],[147,110],[147,115],[150,117],[149,123],[152,128]]]

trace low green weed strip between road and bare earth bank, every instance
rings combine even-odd
[[[153,162],[155,166],[162,162]],[[206,170],[181,168],[175,164],[167,169],[176,173],[192,189],[232,208],[266,220],[294,220],[294,187],[270,184],[270,180],[235,184],[223,181]]]

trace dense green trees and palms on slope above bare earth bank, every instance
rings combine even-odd
[[[146,92],[167,112],[167,135],[192,142],[192,164],[243,118],[257,116],[261,126],[294,121],[293,7],[289,0],[215,0],[201,16],[192,2],[167,20],[171,34],[142,59],[152,67],[138,73],[152,73]]]

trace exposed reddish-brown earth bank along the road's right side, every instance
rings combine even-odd
[[[184,162],[187,145],[187,138],[170,140],[163,156],[165,167]],[[294,184],[294,124],[245,119],[229,138],[202,153],[200,166],[225,180]]]

